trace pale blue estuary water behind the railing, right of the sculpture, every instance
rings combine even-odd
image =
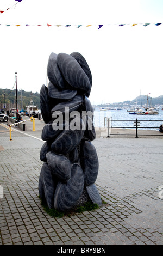
[[[125,127],[127,129],[129,127],[135,127],[134,121],[137,118],[140,121],[139,129],[159,130],[160,125],[163,124],[163,110],[160,108],[158,111],[159,114],[137,115],[129,114],[126,109],[107,111],[95,109],[93,125],[95,127],[107,127],[106,118],[112,118],[112,127]]]

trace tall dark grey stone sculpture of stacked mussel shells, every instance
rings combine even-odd
[[[40,150],[40,198],[48,208],[60,212],[70,212],[89,200],[101,206],[95,185],[98,156],[91,143],[96,133],[93,107],[88,99],[92,86],[89,65],[78,52],[52,52],[47,75],[48,87],[43,84],[40,90],[45,121],[45,143]]]

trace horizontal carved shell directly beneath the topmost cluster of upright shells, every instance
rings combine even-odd
[[[48,93],[49,97],[53,99],[70,100],[77,94],[77,90],[59,89],[57,86],[54,86],[54,84],[49,82]]]

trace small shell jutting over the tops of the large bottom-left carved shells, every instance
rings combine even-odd
[[[52,151],[46,154],[47,163],[52,174],[60,181],[67,182],[71,177],[71,163],[67,157],[57,155]]]

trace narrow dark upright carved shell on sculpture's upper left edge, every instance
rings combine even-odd
[[[40,109],[43,121],[47,124],[52,119],[52,114],[49,105],[48,88],[45,84],[43,84],[40,90]]]

